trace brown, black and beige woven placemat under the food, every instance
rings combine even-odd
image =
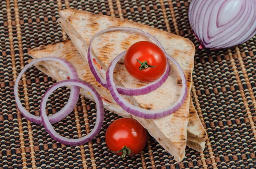
[[[256,37],[238,47],[198,50],[199,42],[188,21],[188,1],[182,0],[2,0],[0,3],[0,169],[251,169],[256,166]],[[99,135],[82,146],[65,146],[52,140],[41,125],[27,121],[17,111],[13,87],[27,64],[31,48],[67,39],[56,20],[61,8],[76,8],[126,18],[163,29],[194,42],[193,101],[209,139],[203,153],[186,149],[183,162],[173,157],[151,136],[143,152],[122,159],[108,151],[105,130],[119,118],[105,110]],[[39,115],[44,92],[55,80],[31,67],[20,81],[21,101]],[[62,87],[47,103],[48,113],[64,106],[70,90]],[[95,103],[81,97],[74,112],[54,124],[69,138],[93,129]]]

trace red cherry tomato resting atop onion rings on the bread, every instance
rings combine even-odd
[[[147,63],[142,66],[145,61]],[[136,79],[153,82],[163,75],[166,69],[166,56],[152,42],[136,42],[125,54],[125,68]]]

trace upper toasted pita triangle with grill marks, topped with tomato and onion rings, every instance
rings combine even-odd
[[[87,58],[86,50],[93,36],[106,28],[133,27],[154,35],[160,43],[163,44],[166,52],[173,56],[180,64],[188,82],[187,87],[189,91],[191,90],[195,46],[188,39],[128,20],[120,20],[118,18],[92,14],[86,11],[64,9],[60,11],[60,15],[61,19],[59,23],[67,32],[84,59]],[[95,40],[93,43],[93,52],[97,56],[97,62],[106,70],[113,57],[128,49],[134,42],[141,40],[147,39],[138,34],[131,34],[124,31],[109,32],[102,34]],[[105,49],[102,50],[102,48]],[[153,110],[167,107],[177,100],[177,95],[181,90],[181,85],[179,85],[180,75],[177,68],[172,63],[170,64],[171,73],[166,82],[157,90],[147,95],[134,96],[134,104],[139,103],[142,107],[151,106],[145,108]],[[126,86],[127,83],[123,85]],[[172,88],[169,86],[172,86]],[[165,93],[164,99],[157,97],[162,96],[163,93]],[[154,100],[149,103],[148,99],[145,99],[145,97],[150,97]],[[164,138],[163,141],[166,145],[171,147],[169,152],[175,157],[177,162],[182,161],[184,157],[182,154],[186,146],[186,130],[189,122],[189,100],[190,94],[188,93],[184,104],[178,111],[165,118],[149,120],[161,137]]]

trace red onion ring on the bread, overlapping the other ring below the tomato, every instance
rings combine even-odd
[[[108,71],[107,71],[107,75],[106,75],[108,89],[109,89],[111,95],[113,96],[113,99],[116,101],[117,104],[119,104],[120,107],[122,107],[123,110],[127,111],[128,113],[130,113],[132,115],[136,115],[140,118],[155,119],[155,118],[162,118],[167,115],[170,115],[170,114],[174,113],[175,111],[177,111],[182,106],[182,104],[184,103],[184,101],[186,99],[186,95],[188,92],[186,77],[185,77],[185,74],[184,74],[183,70],[181,69],[180,65],[178,64],[178,62],[166,53],[165,53],[166,57],[177,66],[177,69],[180,72],[180,77],[182,80],[182,90],[180,93],[180,97],[175,102],[175,104],[173,104],[170,107],[166,107],[166,108],[160,109],[160,110],[145,110],[143,108],[134,106],[134,105],[128,103],[127,101],[125,101],[125,99],[123,99],[122,96],[118,93],[118,91],[116,89],[115,82],[113,80],[113,71],[116,66],[116,63],[119,61],[119,59],[122,58],[122,56],[124,56],[124,54],[125,54],[125,51],[122,52],[121,54],[119,54],[118,56],[116,56],[116,58],[111,62],[110,66],[108,67]]]

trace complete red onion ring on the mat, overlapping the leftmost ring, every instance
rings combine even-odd
[[[62,86],[66,86],[66,85],[71,85],[71,86],[77,86],[77,87],[82,87],[85,90],[87,90],[88,92],[91,93],[91,95],[93,96],[96,105],[97,105],[97,112],[96,112],[96,123],[95,126],[93,128],[93,130],[86,136],[81,137],[81,138],[77,138],[77,139],[70,139],[70,138],[65,138],[61,135],[58,135],[58,133],[54,130],[54,128],[52,127],[49,118],[47,118],[47,114],[46,114],[46,104],[47,104],[47,99],[50,96],[50,94],[52,92],[54,92],[54,90],[56,90],[59,87]],[[40,104],[40,113],[41,113],[41,119],[42,122],[44,124],[44,128],[45,130],[49,133],[49,135],[56,141],[62,143],[62,144],[66,144],[69,146],[77,146],[77,145],[81,145],[84,144],[90,140],[92,140],[100,131],[103,121],[104,121],[104,107],[103,107],[103,102],[102,99],[99,96],[99,93],[92,87],[90,86],[88,83],[84,82],[84,81],[80,81],[80,80],[74,80],[74,79],[70,79],[70,80],[63,80],[61,82],[58,82],[54,85],[52,85],[52,87],[50,87],[46,93],[44,93],[44,96],[41,100],[41,104]]]

